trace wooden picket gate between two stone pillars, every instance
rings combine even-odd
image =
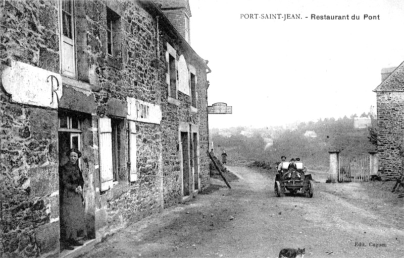
[[[348,158],[338,157],[338,182],[364,182],[370,178],[369,155]]]

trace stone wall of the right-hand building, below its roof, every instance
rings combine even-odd
[[[404,92],[377,92],[378,170],[383,180],[402,173],[399,146],[404,139]]]

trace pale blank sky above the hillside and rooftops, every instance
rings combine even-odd
[[[233,107],[233,114],[210,114],[211,128],[369,112],[376,105],[373,90],[381,83],[381,69],[404,61],[401,0],[189,3],[191,46],[212,70],[209,105]],[[246,14],[258,14],[258,19],[241,18]],[[298,14],[301,19],[261,19],[262,14]],[[349,20],[313,20],[312,14],[348,15]],[[379,20],[364,20],[364,15]]]

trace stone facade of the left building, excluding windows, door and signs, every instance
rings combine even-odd
[[[62,78],[59,109],[13,103],[1,87],[1,256],[59,253],[58,115],[81,117],[84,199],[89,238],[98,240],[182,201],[179,125],[199,134],[201,189],[209,184],[206,64],[146,2],[75,1],[77,78]],[[56,1],[5,1],[1,69],[10,60],[59,73]],[[107,8],[120,16],[120,44],[107,54]],[[146,11],[148,10],[148,11]],[[197,110],[178,93],[168,102],[166,44],[196,69]],[[27,87],[29,87],[27,85]],[[23,89],[22,89],[23,90]],[[137,180],[129,181],[127,97],[161,107],[161,124],[136,121]],[[117,183],[100,192],[98,120],[122,121],[122,166]],[[193,127],[193,128],[194,128]],[[190,136],[192,137],[192,136]],[[63,154],[61,154],[63,155]]]

